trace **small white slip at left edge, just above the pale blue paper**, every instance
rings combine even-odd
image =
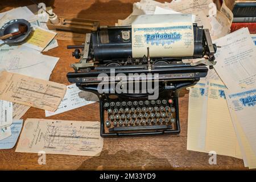
[[[13,104],[0,100],[0,129],[13,123]]]

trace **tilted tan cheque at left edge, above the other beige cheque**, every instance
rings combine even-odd
[[[17,73],[0,72],[0,100],[55,111],[66,86]]]

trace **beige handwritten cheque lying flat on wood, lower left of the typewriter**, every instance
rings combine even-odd
[[[27,119],[15,152],[100,156],[100,122]]]

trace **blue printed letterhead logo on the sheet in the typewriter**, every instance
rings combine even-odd
[[[155,34],[146,34],[144,35],[146,38],[146,42],[147,44],[151,43],[151,45],[156,44],[156,46],[158,46],[159,44],[162,44],[164,46],[164,44],[173,44],[179,40],[181,40],[182,35],[180,33],[174,32],[174,33],[164,33],[164,34],[159,34],[159,33],[155,33]]]

